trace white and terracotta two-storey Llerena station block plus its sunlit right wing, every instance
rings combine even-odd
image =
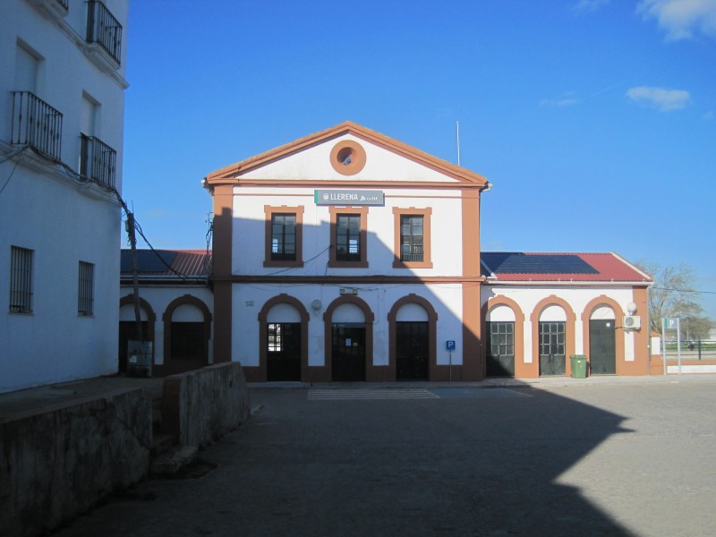
[[[593,372],[648,372],[631,315],[646,312],[648,275],[610,253],[481,262],[489,183],[465,168],[347,122],[205,185],[214,357],[249,380],[568,375],[572,354]]]

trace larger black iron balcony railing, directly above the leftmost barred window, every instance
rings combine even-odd
[[[13,144],[30,145],[56,160],[62,146],[62,114],[30,91],[13,91]]]

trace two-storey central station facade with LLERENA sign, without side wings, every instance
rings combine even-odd
[[[346,122],[228,166],[206,183],[217,215],[217,361],[241,362],[250,380],[482,375],[482,176]],[[351,200],[355,192],[369,200]],[[271,250],[283,240],[272,231],[276,216],[297,222],[299,231],[290,233],[298,253],[290,260]],[[420,222],[419,238],[404,236],[406,217]],[[340,253],[338,228],[355,219],[360,237],[351,239],[351,258],[345,244]],[[406,246],[418,248],[418,257],[404,258]],[[403,359],[410,337],[398,332],[405,329],[420,332],[414,363]],[[455,342],[452,351],[447,341]],[[344,359],[358,365],[344,367]],[[288,372],[281,371],[286,361],[293,361]]]

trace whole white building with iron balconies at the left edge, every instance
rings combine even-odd
[[[0,2],[0,392],[117,369],[128,4]]]

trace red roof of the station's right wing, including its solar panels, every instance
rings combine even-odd
[[[560,270],[568,263],[555,262],[554,268],[550,266],[550,259],[570,258],[571,265],[577,267],[575,271]],[[535,260],[546,262],[535,263]],[[500,270],[501,266],[509,271]],[[535,266],[541,269],[535,270]],[[482,270],[483,276],[496,277],[490,280],[497,282],[652,282],[652,277],[614,252],[482,252]]]

